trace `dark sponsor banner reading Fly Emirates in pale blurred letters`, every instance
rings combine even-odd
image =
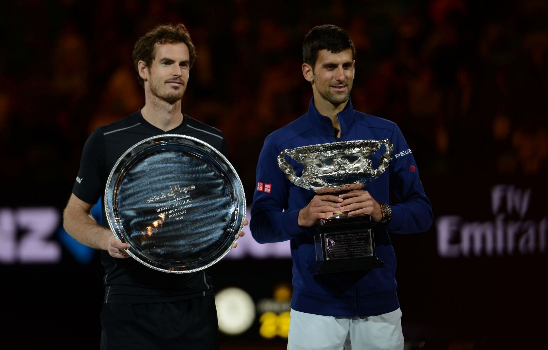
[[[473,191],[477,200],[468,205],[455,201],[452,213],[435,217],[438,256],[455,259],[546,253],[548,215],[532,209],[543,207],[543,190],[544,186],[534,183],[501,183]]]

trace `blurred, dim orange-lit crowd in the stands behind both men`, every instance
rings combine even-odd
[[[144,104],[133,45],[158,23],[196,44],[183,110],[225,132],[252,193],[264,137],[306,112],[301,44],[315,25],[356,45],[356,109],[395,121],[423,172],[548,164],[548,2],[3,2],[0,145],[4,182],[73,182],[100,125]],[[31,142],[29,140],[32,140]],[[17,151],[14,151],[17,150]],[[455,161],[458,160],[458,161]]]

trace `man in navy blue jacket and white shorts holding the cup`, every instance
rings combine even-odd
[[[309,110],[271,133],[257,166],[250,229],[260,243],[291,240],[293,298],[288,348],[403,349],[401,311],[396,294],[396,255],[388,231],[424,232],[432,224],[432,209],[419,179],[413,153],[395,123],[352,108],[355,49],[341,28],[313,28],[302,45],[302,74],[312,85]],[[395,157],[387,171],[364,190],[315,195],[289,182],[277,164],[288,148],[362,139],[390,139]],[[372,156],[379,164],[380,152]],[[296,174],[302,166],[293,160]],[[390,204],[389,191],[399,203]],[[385,267],[313,275],[313,235],[335,211],[350,217],[370,214],[375,226],[375,253]]]

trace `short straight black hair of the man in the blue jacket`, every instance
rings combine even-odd
[[[352,49],[353,60],[356,49],[349,34],[343,28],[332,24],[316,26],[306,34],[302,42],[302,61],[314,69],[319,51],[328,50],[336,54],[348,49]]]

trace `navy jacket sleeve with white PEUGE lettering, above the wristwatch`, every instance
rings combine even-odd
[[[386,229],[397,234],[428,231],[433,220],[432,204],[424,193],[412,150],[397,126],[392,132],[392,143],[390,189],[401,203],[391,205],[392,218]]]

